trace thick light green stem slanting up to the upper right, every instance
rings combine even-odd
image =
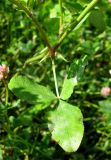
[[[81,20],[91,11],[91,9],[94,7],[94,5],[99,0],[92,0],[91,3],[87,5],[87,7],[82,11],[82,13],[79,15],[79,17],[76,19],[76,21],[72,22],[70,26],[68,26],[65,30],[65,32],[61,35],[60,39],[58,40],[57,44],[55,45],[54,49],[57,50],[63,40],[69,35],[69,33],[81,22]]]

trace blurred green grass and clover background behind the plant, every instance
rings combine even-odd
[[[33,0],[28,4],[42,23],[52,45],[56,43],[60,11],[57,0]],[[90,0],[64,0],[64,26],[76,19]],[[10,67],[9,79],[27,58],[44,48],[36,27],[8,0],[0,1],[0,64]],[[56,69],[59,88],[73,59],[90,55],[83,79],[69,102],[84,116],[85,133],[76,153],[64,152],[51,140],[47,127],[47,109],[18,100],[12,93],[9,108],[4,105],[4,86],[0,82],[0,160],[110,160],[111,94],[101,89],[111,86],[111,3],[102,0],[88,19],[64,40],[58,49]],[[61,54],[67,61],[63,61]],[[23,74],[49,86],[54,92],[50,59],[28,65]],[[6,116],[6,112],[8,116]],[[7,133],[10,125],[11,134]]]

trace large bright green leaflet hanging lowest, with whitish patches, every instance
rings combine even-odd
[[[84,132],[83,116],[76,106],[60,101],[57,109],[51,112],[49,129],[52,138],[66,151],[78,149]]]

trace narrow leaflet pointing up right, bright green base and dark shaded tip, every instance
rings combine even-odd
[[[74,87],[78,84],[78,81],[80,81],[83,75],[84,68],[87,64],[87,59],[88,56],[85,55],[80,60],[74,61],[71,64],[68,79],[65,79],[63,83],[62,91],[60,94],[61,99],[66,100],[73,93]]]

